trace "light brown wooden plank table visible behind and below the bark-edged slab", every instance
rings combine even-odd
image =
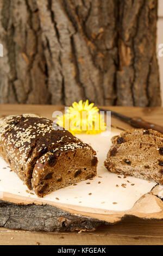
[[[105,107],[106,108],[106,107]],[[163,108],[108,107],[129,117],[142,117],[163,125]],[[35,113],[52,118],[54,111],[64,111],[64,106],[49,105],[0,105],[0,117],[10,114]],[[111,124],[124,129],[128,124],[112,118]],[[115,225],[102,225],[95,231],[30,232],[0,228],[0,245],[163,245],[163,220],[141,220],[127,217]]]

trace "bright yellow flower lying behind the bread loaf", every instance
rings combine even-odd
[[[86,132],[87,134],[97,134],[106,130],[103,115],[99,114],[99,109],[93,107],[86,100],[72,103],[67,109],[67,113],[58,117],[57,124],[69,130],[72,134]]]

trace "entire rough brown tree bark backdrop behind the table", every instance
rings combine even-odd
[[[156,0],[2,0],[0,102],[159,106]]]

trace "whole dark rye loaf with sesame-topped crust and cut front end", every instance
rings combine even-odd
[[[98,162],[90,145],[34,114],[0,119],[0,155],[40,197],[92,178]]]

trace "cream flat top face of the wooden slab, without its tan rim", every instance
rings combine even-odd
[[[82,206],[90,212],[105,213],[108,210],[126,211],[133,207],[135,202],[148,193],[155,186],[154,182],[136,179],[131,176],[123,176],[109,173],[104,167],[106,154],[111,146],[111,137],[117,135],[117,132],[102,133],[100,135],[79,135],[84,142],[91,144],[97,151],[98,168],[97,177],[93,180],[80,182],[76,186],[61,188],[40,198],[43,202],[56,202],[61,205],[71,207]],[[27,186],[18,178],[14,172],[10,172],[8,164],[0,158],[0,198],[3,199],[5,192],[13,196],[22,196],[35,200],[36,194],[30,194]],[[88,184],[89,183],[89,184]],[[56,199],[57,198],[57,199]],[[58,200],[59,199],[59,200]]]

